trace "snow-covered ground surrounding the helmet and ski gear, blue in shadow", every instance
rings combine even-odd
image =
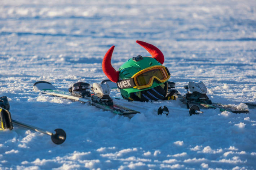
[[[129,119],[32,90],[41,80],[62,90],[100,83],[112,45],[116,69],[149,55],[136,40],[162,50],[181,93],[189,81],[203,81],[214,102],[256,102],[255,0],[1,1],[0,96],[8,96],[13,119],[62,128],[67,139],[55,145],[20,127],[2,130],[0,170],[256,169],[255,107],[191,117],[171,110],[166,117],[147,103]],[[159,105],[185,108],[178,101]]]

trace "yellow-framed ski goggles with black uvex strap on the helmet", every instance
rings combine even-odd
[[[131,87],[143,89],[151,87],[154,83],[154,80],[157,80],[160,83],[164,83],[170,77],[171,74],[165,66],[155,65],[139,71],[129,79],[123,79],[121,81],[118,81],[116,84],[120,89]]]

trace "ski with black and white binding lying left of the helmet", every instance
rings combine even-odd
[[[128,109],[127,107],[115,104],[109,97],[110,89],[106,86],[93,83],[93,93],[91,93],[89,91],[90,85],[88,83],[78,82],[69,89],[69,92],[65,92],[55,88],[49,82],[39,81],[34,83],[33,89],[34,91],[41,92],[42,94],[88,103],[100,109],[111,111],[116,115],[131,117],[137,113],[140,113],[138,111]]]

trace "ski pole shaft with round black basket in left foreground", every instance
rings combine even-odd
[[[20,127],[26,128],[26,129],[34,130],[35,132],[40,132],[40,133],[44,133],[44,134],[50,135],[51,138],[52,138],[53,143],[55,143],[55,144],[61,144],[61,143],[63,143],[66,140],[66,133],[62,129],[55,129],[54,131],[56,133],[53,134],[53,133],[48,132],[46,130],[43,130],[43,129],[40,129],[40,128],[33,127],[31,125],[27,125],[27,124],[21,123],[21,122],[19,122],[17,120],[13,120],[12,119],[12,123],[16,124],[16,125],[18,125]]]

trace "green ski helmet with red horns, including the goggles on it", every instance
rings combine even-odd
[[[105,54],[102,69],[106,76],[117,83],[124,99],[136,101],[164,100],[167,95],[170,73],[163,66],[164,55],[154,45],[136,41],[144,47],[152,57],[133,57],[116,71],[111,65],[114,51],[112,46]]]

